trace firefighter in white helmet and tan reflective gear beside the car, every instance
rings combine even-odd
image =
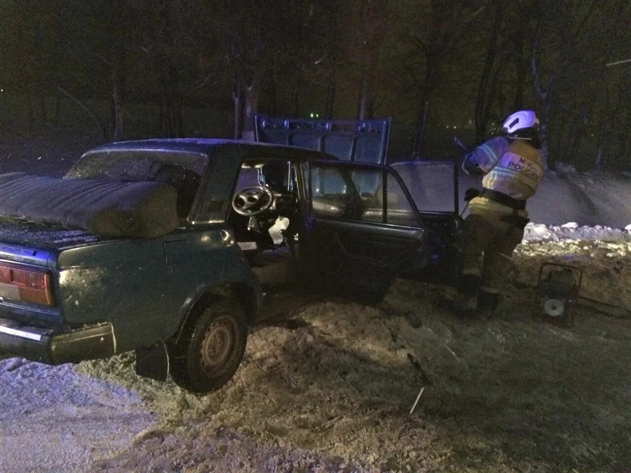
[[[502,126],[504,136],[481,144],[464,158],[463,169],[482,174],[483,189],[469,201],[464,220],[464,266],[459,281],[461,308],[488,317],[500,302],[500,283],[512,267],[512,253],[528,223],[526,199],[543,177],[539,120],[533,110],[519,110]]]

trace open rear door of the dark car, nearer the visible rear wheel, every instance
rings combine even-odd
[[[311,161],[304,171],[300,259],[309,283],[378,301],[395,277],[427,262],[427,232],[390,168]]]

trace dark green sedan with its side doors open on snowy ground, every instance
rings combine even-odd
[[[457,213],[420,213],[387,166],[277,144],[107,144],[64,178],[0,175],[0,215],[0,355],[136,351],[193,392],[232,377],[275,291],[374,303],[457,271]]]

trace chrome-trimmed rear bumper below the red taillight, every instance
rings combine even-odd
[[[108,358],[116,352],[112,324],[91,325],[69,332],[16,324],[0,318],[0,353],[48,365]]]

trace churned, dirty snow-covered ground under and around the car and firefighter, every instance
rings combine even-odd
[[[631,471],[631,231],[573,227],[528,227],[492,320],[399,280],[378,308],[254,327],[210,395],[138,378],[129,355],[0,361],[0,471]],[[531,320],[543,261],[582,267],[600,301],[573,328]]]

